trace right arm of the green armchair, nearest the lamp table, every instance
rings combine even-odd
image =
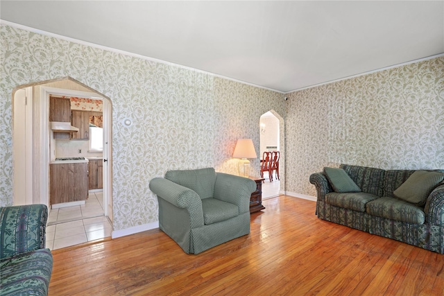
[[[256,182],[246,177],[216,173],[214,198],[237,204],[239,213],[250,211],[251,193],[256,190]]]

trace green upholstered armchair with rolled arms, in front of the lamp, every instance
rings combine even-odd
[[[250,233],[256,183],[214,168],[168,171],[150,189],[159,201],[159,227],[185,253],[198,254]]]

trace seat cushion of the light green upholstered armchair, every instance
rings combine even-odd
[[[202,200],[203,223],[210,225],[216,222],[228,220],[239,215],[236,204],[223,202],[216,198],[205,198]]]

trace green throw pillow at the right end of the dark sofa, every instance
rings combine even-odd
[[[416,171],[393,191],[393,195],[395,198],[423,207],[432,190],[443,180],[444,173]]]

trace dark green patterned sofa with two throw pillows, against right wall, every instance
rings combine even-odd
[[[312,174],[309,180],[316,186],[318,218],[444,253],[444,182],[434,186],[420,206],[393,194],[414,170],[384,171],[348,164],[341,164],[340,168],[361,192],[334,192],[325,169]]]

